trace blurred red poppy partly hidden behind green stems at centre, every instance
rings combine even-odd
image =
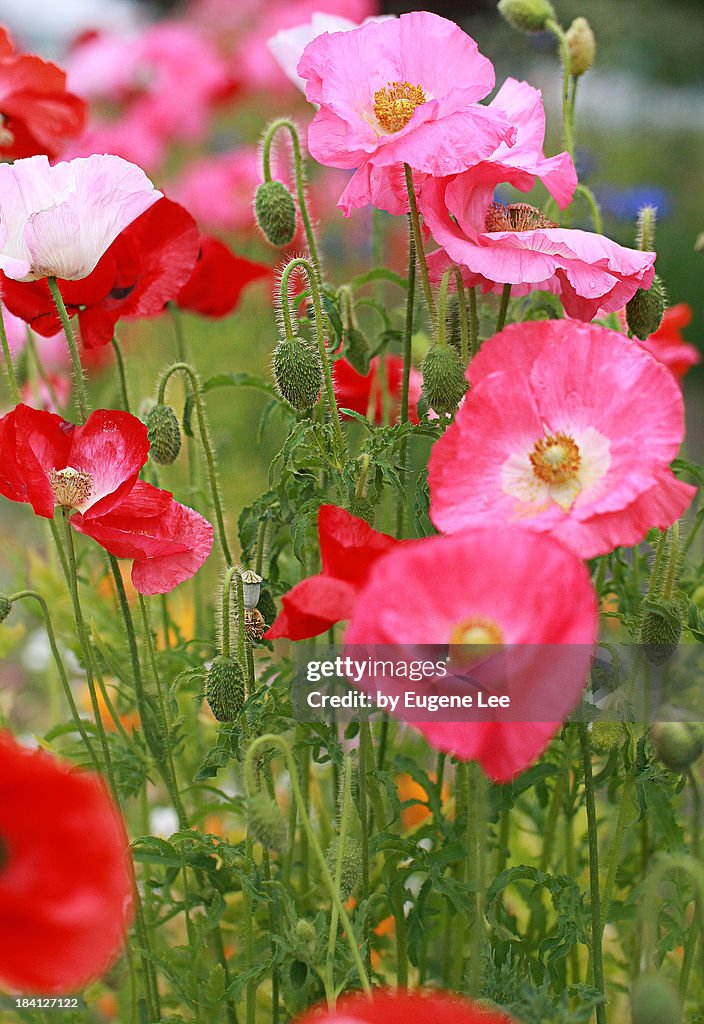
[[[400,355],[385,358],[386,388],[391,407],[391,420],[398,420],[401,409],[401,387],[403,380],[403,359]],[[381,357],[375,355],[369,364],[368,374],[358,374],[347,359],[337,359],[333,366],[333,383],[338,406],[352,409],[361,416],[370,416],[375,423],[384,421],[384,400],[382,397]],[[417,400],[421,397],[421,374],[411,367],[408,385],[408,419],[419,423]],[[371,411],[369,410],[371,407]]]

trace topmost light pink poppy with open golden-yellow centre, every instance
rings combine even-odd
[[[308,130],[311,156],[359,168],[360,177],[403,163],[455,174],[515,135],[502,114],[477,103],[493,87],[491,62],[437,14],[325,33],[306,46],[298,73],[319,104]]]

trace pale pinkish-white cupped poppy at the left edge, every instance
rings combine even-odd
[[[0,269],[13,281],[80,281],[162,193],[120,157],[0,164]]]

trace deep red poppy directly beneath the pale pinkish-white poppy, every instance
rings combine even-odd
[[[160,199],[122,231],[92,273],[59,281],[70,316],[78,315],[86,348],[109,343],[122,317],[156,316],[188,281],[199,254],[190,214]],[[46,280],[2,280],[3,301],[33,331],[50,337],[61,328]]]

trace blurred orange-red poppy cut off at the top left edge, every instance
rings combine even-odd
[[[83,131],[86,102],[67,91],[65,73],[49,60],[15,53],[0,27],[0,156],[17,160],[57,157]]]

